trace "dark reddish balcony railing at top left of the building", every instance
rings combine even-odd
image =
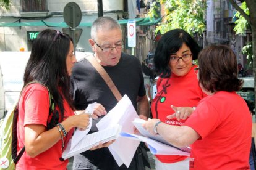
[[[46,0],[20,0],[22,12],[45,12],[48,11]]]

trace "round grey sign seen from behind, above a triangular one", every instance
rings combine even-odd
[[[64,7],[63,17],[64,21],[71,28],[79,26],[82,20],[82,12],[79,5],[77,5],[75,2],[67,3]]]

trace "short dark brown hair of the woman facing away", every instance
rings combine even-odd
[[[228,46],[212,45],[198,56],[199,83],[210,92],[238,91],[244,81],[237,78],[236,55]]]

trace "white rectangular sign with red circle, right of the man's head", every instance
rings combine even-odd
[[[128,47],[136,47],[136,22],[135,20],[128,20],[127,22],[127,38]]]

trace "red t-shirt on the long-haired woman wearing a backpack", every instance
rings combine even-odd
[[[56,107],[59,111],[59,108]],[[74,111],[69,107],[66,100],[64,100],[64,116],[74,115]],[[59,111],[60,113],[60,111]],[[27,124],[42,124],[47,126],[49,116],[49,94],[48,90],[38,83],[30,84],[24,89],[19,102],[19,118],[17,123],[18,144],[19,151],[24,147],[24,127]],[[65,144],[72,136],[72,131],[67,133],[64,137]],[[30,158],[27,152],[24,152],[16,169],[67,169],[68,160],[61,161],[62,142],[59,140],[53,147],[49,148],[43,153],[40,153],[35,158]]]

